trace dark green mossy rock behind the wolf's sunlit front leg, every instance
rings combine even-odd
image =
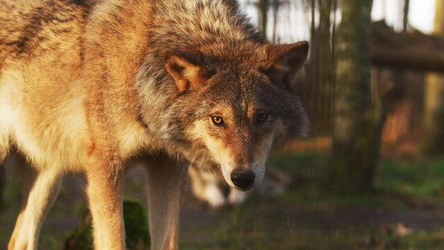
[[[149,249],[149,228],[147,210],[138,201],[124,201],[124,222],[126,248]],[[65,250],[93,250],[91,216],[85,215],[83,223],[65,242]]]

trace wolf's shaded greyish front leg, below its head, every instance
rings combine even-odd
[[[147,172],[151,249],[178,249],[179,216],[188,179],[188,164],[159,156],[149,160]]]

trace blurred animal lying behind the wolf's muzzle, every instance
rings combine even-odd
[[[240,205],[248,197],[254,195],[267,196],[285,192],[292,182],[290,176],[273,167],[270,161],[266,163],[266,166],[267,170],[262,183],[250,191],[231,188],[224,181],[221,174],[202,172],[190,167],[188,173],[190,174],[192,194],[200,201],[207,203],[211,208],[220,208],[221,206]]]

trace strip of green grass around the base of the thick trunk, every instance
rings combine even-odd
[[[398,206],[381,202],[386,195],[418,199],[418,202],[444,202],[444,159],[438,160],[400,160],[384,158],[379,161],[375,176],[377,195],[354,195],[351,197],[329,197],[322,192],[322,178],[327,169],[327,153],[277,154],[272,156],[273,163],[290,173],[298,189],[299,203],[322,204],[327,206]],[[291,198],[295,198],[291,196]]]

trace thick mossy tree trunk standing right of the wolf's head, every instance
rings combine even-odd
[[[370,92],[371,0],[343,0],[336,33],[334,128],[327,188],[371,192],[379,158],[380,108]],[[379,112],[378,112],[379,111]]]

